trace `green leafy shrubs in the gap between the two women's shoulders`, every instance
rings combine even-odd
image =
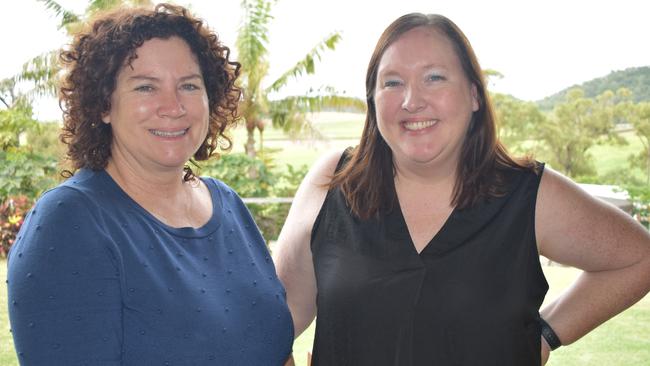
[[[256,179],[249,177],[251,168],[257,171]],[[264,160],[246,154],[228,154],[201,166],[202,175],[223,181],[242,197],[254,198],[293,197],[306,173],[306,166],[295,169],[288,165],[287,171],[278,171],[268,153]],[[249,204],[248,208],[266,241],[277,239],[289,204]]]

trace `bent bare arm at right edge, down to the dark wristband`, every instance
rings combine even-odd
[[[629,215],[546,169],[537,199],[540,254],[584,273],[542,310],[570,344],[650,290],[650,234]]]

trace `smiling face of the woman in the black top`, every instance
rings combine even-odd
[[[398,166],[455,164],[479,107],[452,43],[428,27],[409,30],[386,48],[374,100],[379,131]]]

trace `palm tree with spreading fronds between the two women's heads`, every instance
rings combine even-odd
[[[243,90],[240,113],[246,122],[248,139],[246,153],[256,155],[255,131],[264,132],[264,118],[269,118],[274,127],[281,127],[286,133],[298,136],[304,132],[316,133],[306,113],[319,111],[323,107],[363,110],[365,103],[359,99],[337,95],[332,88],[323,88],[306,95],[287,96],[271,100],[269,95],[280,92],[291,80],[315,72],[316,62],[326,50],[334,50],[341,35],[334,32],[326,36],[293,67],[283,73],[270,86],[263,87],[268,75],[268,25],[273,19],[271,9],[275,0],[243,0],[243,19],[237,35],[238,61],[242,64],[240,87]]]

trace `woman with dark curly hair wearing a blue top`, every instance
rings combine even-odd
[[[282,365],[293,328],[237,194],[191,165],[227,150],[240,65],[178,6],[95,19],[62,52],[72,168],[9,256],[24,365]],[[291,361],[289,361],[291,362]]]

